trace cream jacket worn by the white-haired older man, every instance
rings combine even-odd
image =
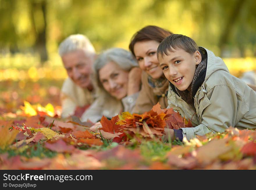
[[[68,77],[61,88],[61,117],[73,115],[77,106],[90,105],[94,100],[93,96],[94,92],[79,87]]]

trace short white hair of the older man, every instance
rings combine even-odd
[[[72,34],[68,36],[59,46],[59,55],[63,56],[76,50],[84,50],[88,53],[95,53],[95,49],[90,40],[82,34]]]

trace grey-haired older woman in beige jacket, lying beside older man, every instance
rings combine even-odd
[[[141,84],[141,70],[132,54],[122,48],[111,48],[99,54],[93,64],[96,100],[83,113],[81,121],[112,118],[120,112],[131,112]]]

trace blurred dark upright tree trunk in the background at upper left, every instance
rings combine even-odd
[[[43,65],[45,61],[48,60],[48,54],[46,49],[46,27],[47,27],[47,21],[46,21],[46,11],[47,11],[47,0],[41,0],[41,1],[31,1],[31,21],[32,21],[32,28],[34,30],[35,34],[35,44],[34,49],[36,52],[40,54],[40,61]],[[35,14],[36,11],[40,9],[42,11],[42,26],[40,29],[38,29],[37,23],[35,17],[37,16]]]

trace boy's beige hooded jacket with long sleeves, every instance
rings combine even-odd
[[[256,128],[256,93],[241,79],[232,76],[225,63],[207,51],[205,81],[194,97],[194,110],[169,86],[168,108],[173,107],[195,127],[181,128],[190,140],[195,135],[224,132],[228,127]]]

